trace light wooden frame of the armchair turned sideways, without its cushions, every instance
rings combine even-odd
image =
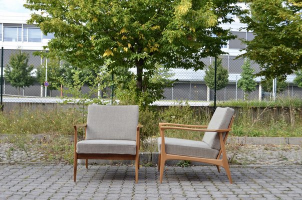
[[[160,171],[160,183],[162,183],[164,165],[166,160],[174,159],[174,160],[191,160],[198,162],[205,162],[209,164],[216,165],[218,172],[220,172],[219,166],[224,167],[227,177],[232,184],[231,173],[228,165],[228,160],[226,157],[225,151],[225,142],[228,136],[229,131],[231,130],[231,126],[234,120],[234,116],[232,116],[231,121],[228,125],[227,129],[204,129],[207,128],[207,125],[187,125],[187,124],[177,124],[177,123],[159,123],[159,131],[161,136],[161,152],[158,157],[158,170]],[[202,128],[202,129],[200,129]],[[176,154],[168,154],[166,153],[165,148],[165,130],[166,129],[179,129],[179,130],[192,130],[192,131],[202,131],[202,132],[217,132],[219,134],[220,140],[220,151],[217,155],[216,159],[212,158],[204,158],[204,157],[193,157],[186,155],[176,155]],[[225,132],[225,137],[223,139],[222,133]],[[222,153],[222,158],[220,159],[220,155]]]

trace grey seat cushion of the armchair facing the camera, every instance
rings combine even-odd
[[[77,143],[77,153],[117,153],[136,154],[136,141],[89,139]]]

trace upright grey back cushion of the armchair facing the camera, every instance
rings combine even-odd
[[[86,139],[136,141],[137,105],[89,105]]]

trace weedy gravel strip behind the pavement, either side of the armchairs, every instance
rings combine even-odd
[[[49,152],[43,149],[41,144],[20,147],[2,141],[0,163],[67,163],[49,159]],[[302,147],[299,145],[227,145],[227,156],[233,165],[302,165]]]

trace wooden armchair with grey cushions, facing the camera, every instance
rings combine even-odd
[[[78,128],[84,127],[85,139],[78,141]],[[87,123],[74,125],[74,181],[78,159],[135,160],[135,182],[139,169],[139,130],[137,105],[89,105]]]

